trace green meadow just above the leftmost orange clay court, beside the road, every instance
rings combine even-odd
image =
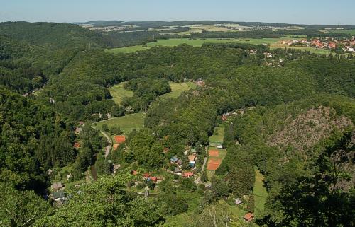
[[[125,135],[128,135],[130,132],[132,132],[133,129],[143,128],[145,117],[146,115],[141,112],[123,117],[112,117],[109,120],[95,123],[95,127],[102,129],[102,124],[107,124],[108,127],[119,126],[121,131],[123,131]]]

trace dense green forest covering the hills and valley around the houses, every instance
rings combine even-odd
[[[185,24],[192,23],[175,25]],[[321,36],[316,30],[192,37]],[[268,197],[252,226],[354,226],[354,59],[235,43],[104,52],[156,38],[63,23],[0,23],[0,226],[168,226],[179,214],[192,220],[186,226],[245,226],[215,207],[247,197],[245,210],[253,212],[256,170]],[[203,83],[159,98],[172,91],[170,83],[186,81]],[[133,95],[117,104],[109,87],[119,83]],[[143,129],[104,156],[111,141],[93,122],[131,112],[145,113]],[[211,180],[170,174],[172,157],[191,170],[186,147],[195,148],[200,172],[220,125],[226,157]],[[110,130],[122,134],[119,125],[104,129]],[[68,189],[65,203],[53,206],[46,194],[55,171],[70,167],[68,182],[85,181],[93,166],[98,180]],[[139,181],[141,173],[162,171],[170,172],[158,186]],[[143,199],[133,187],[160,193]]]

